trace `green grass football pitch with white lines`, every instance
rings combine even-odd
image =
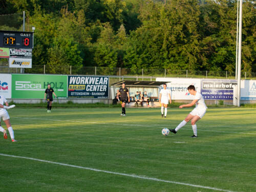
[[[256,109],[208,109],[198,138],[190,123],[161,134],[191,109],[11,109],[0,191],[256,191]]]

